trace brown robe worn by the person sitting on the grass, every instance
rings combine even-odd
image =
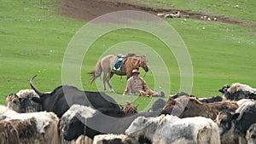
[[[140,95],[140,90],[147,90],[147,89],[148,89],[148,86],[143,78],[132,76],[127,80],[124,95],[127,95],[130,92],[134,95]]]

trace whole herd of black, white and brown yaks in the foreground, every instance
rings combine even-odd
[[[0,106],[0,144],[255,144],[256,89],[224,85],[222,97],[185,92],[158,99],[148,112],[103,92],[61,85],[7,95]]]

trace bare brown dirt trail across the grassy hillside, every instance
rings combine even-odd
[[[129,0],[119,0],[118,2],[114,0],[61,0],[61,14],[78,20],[90,21],[102,14],[119,10],[139,10],[154,15],[160,13],[170,14],[180,11],[181,18],[202,20],[201,17],[207,16],[210,18],[216,18],[219,22],[223,23],[238,26],[248,26],[246,22],[230,20],[214,15],[195,14],[190,11],[178,9],[148,8],[137,3],[131,3]],[[212,22],[214,22],[214,20],[212,20]]]

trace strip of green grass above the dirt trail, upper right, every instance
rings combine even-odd
[[[137,3],[143,3],[148,6],[154,6],[160,9],[182,9],[194,13],[222,16],[232,20],[243,20],[256,23],[256,3],[253,0],[141,0]]]

